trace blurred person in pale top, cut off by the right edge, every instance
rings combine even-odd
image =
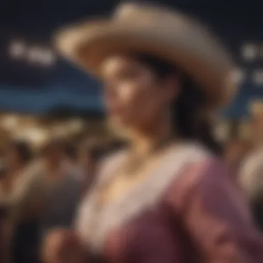
[[[263,101],[251,104],[253,150],[240,170],[240,182],[248,197],[257,226],[263,230]]]

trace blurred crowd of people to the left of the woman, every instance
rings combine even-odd
[[[45,233],[70,228],[98,162],[115,143],[53,138],[38,152],[13,140],[1,158],[1,262],[39,262]],[[3,260],[3,261],[2,261]]]

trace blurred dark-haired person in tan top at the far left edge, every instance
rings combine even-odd
[[[39,240],[39,211],[30,172],[32,159],[30,146],[20,140],[10,143],[4,154],[0,206],[6,210],[3,233],[7,262],[37,262],[34,251]]]

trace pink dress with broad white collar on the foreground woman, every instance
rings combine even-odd
[[[112,263],[263,263],[262,236],[239,188],[198,145],[172,147],[143,183],[96,210],[96,192],[124,156],[107,162],[80,208],[77,230],[90,255]]]

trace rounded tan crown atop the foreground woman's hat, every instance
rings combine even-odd
[[[200,24],[199,21],[184,15],[178,10],[171,10],[156,4],[121,3],[116,8],[112,21],[119,25],[131,25],[137,30],[158,30],[158,33],[161,33],[165,38],[174,39],[174,35],[183,33],[185,39],[187,36],[192,39],[192,35],[196,35],[196,42],[200,39],[200,35],[210,37],[211,42],[215,40],[210,35],[210,30]]]

